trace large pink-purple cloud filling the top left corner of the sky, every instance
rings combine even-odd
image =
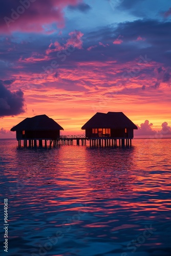
[[[81,2],[82,0],[49,0],[41,1],[40,5],[39,1],[28,1],[27,5],[22,5],[20,1],[6,0],[9,10],[2,16],[0,29],[3,33],[14,31],[53,33],[52,24],[56,24],[56,28],[65,26],[63,10],[69,5],[77,6]]]

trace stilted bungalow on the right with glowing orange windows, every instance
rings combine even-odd
[[[125,142],[126,145],[131,145],[134,130],[138,127],[122,112],[108,112],[107,114],[96,113],[81,129],[86,130],[86,138],[90,139],[90,144],[91,142],[101,144],[104,139],[105,144],[112,142],[117,145],[117,139],[119,139],[119,145],[120,143],[124,145]]]

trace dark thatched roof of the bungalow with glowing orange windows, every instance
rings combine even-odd
[[[85,130],[93,128],[138,129],[138,127],[122,112],[108,112],[107,114],[97,112],[87,123],[82,126],[81,129]]]

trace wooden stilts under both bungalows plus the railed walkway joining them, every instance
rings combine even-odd
[[[50,147],[56,147],[60,145],[74,145],[74,140],[76,145],[86,145],[89,141],[90,147],[131,147],[132,138],[111,138],[111,137],[95,137],[95,138],[86,138],[86,135],[61,135],[58,139],[49,140],[49,139],[34,139],[34,140],[23,140],[24,147],[47,147],[48,144]],[[43,143],[44,142],[44,143]],[[48,143],[49,142],[49,143]],[[18,147],[22,146],[22,140],[18,140]]]

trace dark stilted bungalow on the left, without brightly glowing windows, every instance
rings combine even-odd
[[[56,145],[60,137],[60,130],[63,128],[47,115],[38,115],[31,118],[26,118],[22,122],[12,127],[11,131],[16,131],[16,139],[18,146],[21,146],[21,141],[24,141],[24,146],[37,146],[37,140],[39,146],[42,146],[42,140],[45,140],[45,146],[47,146],[47,140],[50,140],[50,146]]]

